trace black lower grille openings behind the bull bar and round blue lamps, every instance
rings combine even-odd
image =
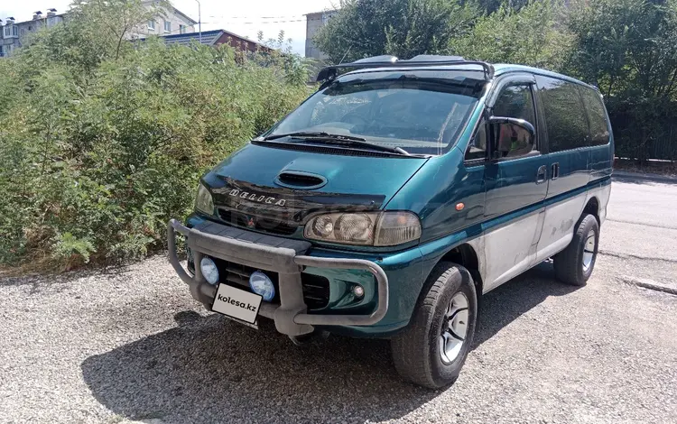
[[[217,258],[212,259],[217,264],[220,282],[238,289],[251,291],[249,277],[255,271],[264,272],[275,286],[275,297],[271,300],[271,303],[280,303],[280,281],[277,272],[257,270],[251,266],[231,263]],[[309,310],[322,309],[329,304],[329,280],[325,277],[301,272],[301,286],[303,288],[303,300]]]

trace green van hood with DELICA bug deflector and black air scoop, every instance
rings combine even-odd
[[[427,160],[300,152],[249,143],[203,180],[221,219],[291,235],[314,213],[384,207]],[[274,226],[274,231],[265,226]]]

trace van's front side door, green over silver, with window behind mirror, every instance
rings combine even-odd
[[[543,229],[547,192],[547,159],[540,152],[532,75],[499,82],[489,115],[524,119],[536,128],[533,144],[515,146],[485,167],[485,254],[487,290],[515,277],[535,263]],[[490,100],[491,101],[491,100]],[[489,103],[491,106],[491,103]]]

